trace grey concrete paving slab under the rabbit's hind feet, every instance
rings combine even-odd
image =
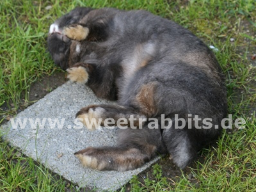
[[[127,183],[132,175],[145,170],[156,158],[145,166],[127,172],[104,171],[99,172],[84,168],[74,156],[74,152],[85,147],[99,147],[102,145],[115,145],[116,129],[97,129],[88,131],[74,122],[79,109],[89,104],[109,103],[97,98],[90,88],[76,83],[65,83],[53,92],[38,100],[32,106],[19,113],[11,122],[1,127],[4,139],[11,145],[18,147],[24,154],[33,157],[53,172],[58,173],[80,187],[97,188],[98,191],[115,191]],[[30,122],[38,118],[44,127],[39,124],[35,127]],[[59,120],[60,127],[53,126],[47,119]],[[27,120],[26,120],[27,119]],[[17,120],[21,123],[18,125]],[[63,127],[61,127],[61,120]],[[17,127],[15,127],[17,125]]]

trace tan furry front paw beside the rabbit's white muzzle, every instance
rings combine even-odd
[[[89,29],[81,25],[68,26],[63,29],[63,34],[72,40],[81,41],[89,35]]]

